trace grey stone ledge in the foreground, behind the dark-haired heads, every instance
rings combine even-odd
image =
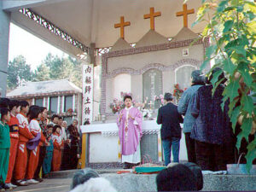
[[[105,177],[119,192],[156,191],[155,177],[133,173],[117,174],[120,169],[96,170]],[[73,177],[77,170],[52,172],[51,178]],[[256,175],[204,175],[203,191],[256,191]]]

